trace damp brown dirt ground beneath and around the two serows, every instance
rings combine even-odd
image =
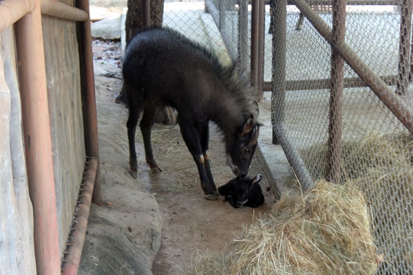
[[[105,155],[105,159],[101,157],[101,165],[105,166],[106,171],[112,169],[112,173],[117,171],[124,175],[128,167],[125,157],[128,154],[127,109],[115,103],[121,87],[120,43],[94,41],[92,46],[100,140],[103,137],[109,139],[104,143],[113,144],[116,151],[122,151],[120,154]],[[162,242],[153,262],[153,274],[182,274],[197,250],[221,251],[243,226],[273,205],[275,198],[271,191],[266,191],[268,179],[256,157],[253,158],[248,176],[254,177],[258,173],[263,175],[260,184],[265,196],[264,206],[235,209],[228,202],[204,199],[198,170],[182,140],[179,126],[153,126],[153,152],[162,173],[153,173],[145,163],[140,131],[136,133],[139,169],[136,184],[141,184],[147,192],[156,195],[162,214]],[[231,169],[226,166],[222,134],[215,125],[211,125],[210,156],[215,184],[220,186],[233,179]],[[111,162],[121,165],[111,166]],[[103,177],[103,188],[105,184],[114,184],[106,182],[109,180],[113,181]],[[121,188],[122,184],[118,185]],[[128,199],[134,199],[133,194],[129,196]],[[126,217],[124,223],[128,223]]]

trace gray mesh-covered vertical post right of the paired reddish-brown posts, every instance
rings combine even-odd
[[[282,129],[282,122],[284,121],[284,101],[286,97],[286,3],[286,0],[277,0],[273,3],[273,94],[271,96],[273,144],[280,144],[280,140],[275,134],[275,129]]]

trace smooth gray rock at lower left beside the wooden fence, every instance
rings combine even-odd
[[[93,205],[78,275],[152,274],[161,239],[158,203],[147,192],[120,197],[115,205]]]

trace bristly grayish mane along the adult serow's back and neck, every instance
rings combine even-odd
[[[213,67],[213,71],[222,81],[226,91],[231,94],[236,104],[240,107],[241,112],[246,115],[251,114],[255,120],[257,120],[259,110],[255,96],[253,96],[253,88],[249,85],[248,78],[240,74],[237,63],[231,62],[231,65],[227,67],[223,66],[215,52],[171,28],[149,28],[146,30],[151,29],[169,32],[169,34],[173,35],[175,39],[178,39],[180,43],[189,45],[191,51],[198,53],[202,58],[207,58],[209,64]],[[143,30],[143,32],[145,32],[145,30]],[[185,48],[188,49],[188,47]]]

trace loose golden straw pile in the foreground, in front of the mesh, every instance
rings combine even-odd
[[[361,193],[319,181],[298,197],[283,195],[221,254],[195,256],[186,274],[374,274],[375,259]]]

